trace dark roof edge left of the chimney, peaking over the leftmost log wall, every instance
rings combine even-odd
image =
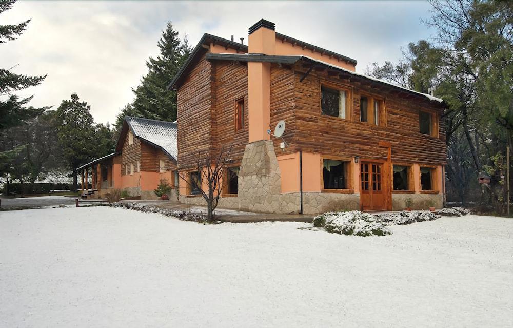
[[[204,45],[210,45],[210,43],[219,44],[224,46],[225,49],[231,48],[236,49],[237,51],[248,52],[248,46],[239,42],[234,42],[227,40],[225,38],[215,36],[212,34],[205,33],[203,34],[200,42],[196,45],[196,47],[192,50],[191,54],[185,61],[185,63],[180,67],[180,70],[176,72],[173,80],[168,84],[167,90],[176,90],[178,85],[182,83],[187,73],[194,67],[194,64],[198,61],[200,55],[205,53],[207,49],[205,49]]]

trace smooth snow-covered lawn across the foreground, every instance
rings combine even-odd
[[[2,327],[506,327],[513,219],[357,237],[110,207],[0,212]]]

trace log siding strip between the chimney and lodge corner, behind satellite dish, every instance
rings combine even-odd
[[[270,83],[270,129],[274,132],[274,127],[279,121],[285,121],[285,133],[283,139],[287,142],[288,147],[280,148],[281,138],[271,136],[274,144],[274,151],[277,155],[291,153],[295,148],[296,138],[296,120],[295,120],[295,104],[294,104],[294,72],[285,67],[279,67],[276,64],[271,66],[271,83]]]

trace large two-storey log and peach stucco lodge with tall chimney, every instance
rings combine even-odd
[[[280,34],[266,20],[249,28],[248,43],[204,34],[169,85],[178,95],[179,169],[193,156],[186,149],[215,156],[232,145],[219,207],[400,210],[408,198],[412,208],[443,206],[441,99],[356,73],[356,60]],[[280,120],[284,148],[268,134]],[[130,181],[120,185],[134,188],[123,175],[127,159],[155,173],[157,155],[146,162],[144,141],[139,155],[129,155],[123,138],[116,148],[121,157],[112,160]],[[198,179],[185,169],[180,175]],[[180,184],[181,201],[204,203],[197,194]]]

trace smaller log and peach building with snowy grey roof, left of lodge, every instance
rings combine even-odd
[[[178,188],[176,137],[176,122],[125,117],[115,151],[78,168],[82,195],[105,197],[121,189],[131,197],[156,199],[153,190],[161,179]],[[91,189],[85,183],[89,177]],[[174,190],[169,196],[174,197]]]

